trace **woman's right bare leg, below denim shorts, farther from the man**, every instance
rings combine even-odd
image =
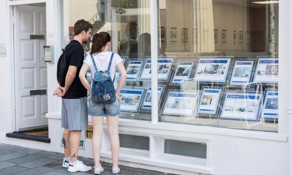
[[[106,116],[110,147],[112,150],[113,166],[118,166],[119,151],[120,151],[120,139],[119,139],[119,116]]]

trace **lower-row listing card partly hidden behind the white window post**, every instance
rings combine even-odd
[[[161,94],[163,94],[165,85],[158,85],[158,104],[160,102]],[[150,109],[152,108],[152,90],[151,84],[148,84],[146,87],[146,95],[142,103],[141,109]]]

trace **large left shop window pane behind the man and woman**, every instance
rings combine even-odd
[[[82,12],[82,13],[80,13]],[[151,79],[140,80],[145,58],[151,56],[150,0],[63,0],[61,1],[61,35],[64,48],[74,38],[74,24],[79,19],[89,21],[92,26],[91,38],[83,46],[89,55],[92,37],[99,32],[111,36],[110,50],[118,53],[127,70],[127,82],[120,93],[122,118],[151,120],[151,108],[141,110],[146,87]],[[119,72],[116,80],[119,81]],[[90,70],[87,74],[91,81]]]

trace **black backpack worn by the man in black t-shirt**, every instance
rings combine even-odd
[[[63,53],[61,54],[61,56],[59,57],[58,60],[58,64],[57,64],[57,81],[59,83],[60,86],[65,87],[65,80],[66,80],[66,75],[68,72],[68,68],[69,68],[69,63],[67,63],[67,59],[66,59],[66,52],[75,45],[79,45],[80,44],[72,44],[72,45],[67,45],[65,47],[65,50],[62,49]],[[83,48],[82,48],[83,49]]]

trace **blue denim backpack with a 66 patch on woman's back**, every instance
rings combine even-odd
[[[110,77],[109,69],[112,64],[113,54],[110,57],[109,67],[107,71],[98,71],[93,56],[91,56],[94,68],[96,73],[94,73],[93,81],[92,81],[92,103],[96,104],[106,104],[106,103],[113,103],[116,101],[116,90],[114,87],[115,78],[113,81]]]

